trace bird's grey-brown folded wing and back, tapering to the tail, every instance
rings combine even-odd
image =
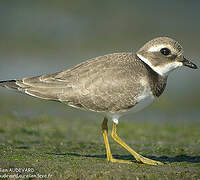
[[[90,59],[66,71],[4,81],[0,85],[73,107],[118,111],[136,104],[141,78],[138,72],[143,69],[135,54],[114,53]]]

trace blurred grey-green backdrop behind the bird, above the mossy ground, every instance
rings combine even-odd
[[[185,57],[200,65],[200,1],[67,0],[0,1],[0,80],[70,68],[113,52],[135,52],[145,42],[169,36]],[[173,72],[150,108],[123,117],[135,121],[199,121],[200,70]],[[0,88],[0,116],[102,119]]]

